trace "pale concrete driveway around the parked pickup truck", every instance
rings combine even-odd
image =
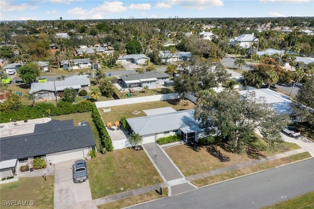
[[[97,209],[89,188],[88,180],[75,183],[72,165],[75,160],[55,164],[54,208],[55,209]]]

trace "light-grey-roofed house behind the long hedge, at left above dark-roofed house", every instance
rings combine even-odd
[[[42,97],[43,100],[54,100],[55,92],[57,95],[64,91],[66,88],[73,88],[77,91],[86,90],[89,91],[90,80],[83,76],[71,76],[64,80],[55,80],[41,83],[31,83],[29,93],[36,92],[38,97]]]

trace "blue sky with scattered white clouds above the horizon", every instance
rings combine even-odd
[[[0,0],[0,20],[314,16],[314,0]]]

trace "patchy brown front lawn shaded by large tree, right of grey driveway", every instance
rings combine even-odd
[[[259,142],[258,144],[261,146],[264,142]],[[192,176],[254,160],[255,158],[252,157],[266,157],[299,148],[300,147],[294,143],[284,142],[281,149],[276,152],[262,151],[257,155],[248,155],[230,153],[217,145],[191,146],[190,144],[183,144],[170,147],[165,151],[179,167],[184,176]]]

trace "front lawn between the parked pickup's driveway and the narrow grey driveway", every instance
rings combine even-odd
[[[93,199],[162,183],[145,152],[131,148],[98,154],[87,171]]]

